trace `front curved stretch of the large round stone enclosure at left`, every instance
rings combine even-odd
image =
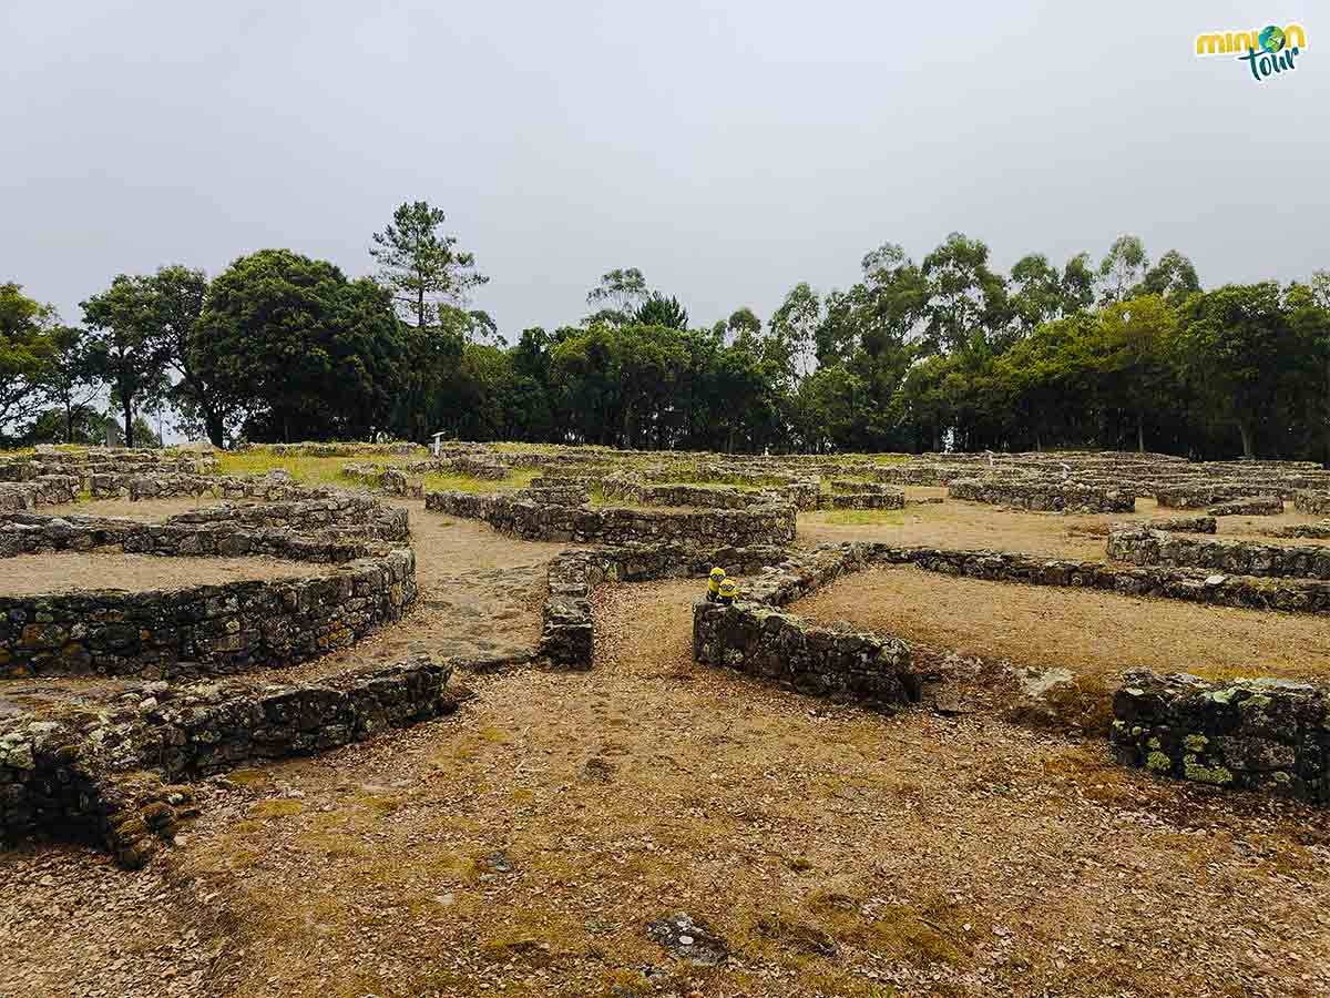
[[[399,548],[330,575],[0,596],[0,676],[211,676],[278,668],[344,648],[415,601]]]

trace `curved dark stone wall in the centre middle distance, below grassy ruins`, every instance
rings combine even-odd
[[[504,495],[427,492],[427,510],[484,520],[528,540],[585,544],[674,543],[698,548],[790,544],[795,511],[771,503],[749,510],[624,510],[547,506]]]

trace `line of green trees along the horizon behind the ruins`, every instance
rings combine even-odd
[[[954,233],[918,262],[886,244],[859,279],[799,283],[765,321],[697,323],[641,270],[604,274],[571,326],[516,342],[469,307],[488,278],[427,202],[403,204],[374,277],[285,249],[209,279],[120,274],[66,326],[0,285],[0,432],[92,440],[109,398],[217,446],[471,440],[714,451],[1140,448],[1330,459],[1330,273],[1204,289],[1133,236],[1095,261],[1003,274]]]

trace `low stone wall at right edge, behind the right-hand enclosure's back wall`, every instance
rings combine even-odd
[[[1115,526],[1108,556],[1138,566],[1206,568],[1260,578],[1330,579],[1330,547],[1254,544],[1170,536],[1148,527]]]

